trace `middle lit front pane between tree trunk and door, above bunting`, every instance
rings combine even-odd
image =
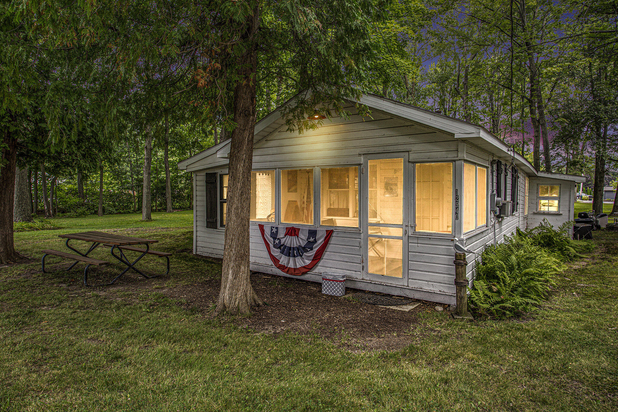
[[[281,222],[313,224],[313,169],[281,170]]]

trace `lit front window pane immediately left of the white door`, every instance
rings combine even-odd
[[[358,227],[358,166],[329,167],[320,175],[321,224]]]

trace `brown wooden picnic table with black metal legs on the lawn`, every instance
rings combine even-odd
[[[165,272],[165,275],[169,274],[169,256],[171,256],[171,253],[159,252],[159,251],[150,249],[150,245],[152,243],[159,242],[158,240],[122,236],[122,235],[116,235],[114,233],[98,232],[96,230],[91,231],[91,232],[67,233],[66,235],[59,235],[58,237],[66,238],[65,245],[67,246],[67,248],[69,250],[74,251],[77,254],[71,254],[71,253],[58,251],[58,250],[51,250],[51,249],[44,250],[43,258],[41,259],[41,270],[44,273],[48,273],[45,271],[45,257],[48,255],[58,256],[60,258],[73,260],[74,262],[69,267],[67,267],[67,269],[65,269],[66,271],[69,271],[76,264],[82,262],[86,264],[86,267],[83,271],[83,284],[86,286],[90,286],[88,285],[88,269],[90,269],[90,266],[108,266],[109,265],[108,261],[102,261],[99,259],[93,259],[93,258],[88,257],[88,254],[90,254],[98,246],[103,245],[103,246],[109,247],[110,248],[109,253],[111,253],[111,255],[117,259],[117,261],[119,261],[120,263],[124,264],[127,267],[124,269],[124,271],[122,271],[119,275],[117,275],[111,282],[107,284],[100,284],[100,285],[95,285],[95,286],[112,285],[122,275],[124,275],[127,271],[129,271],[129,269],[132,269],[133,271],[142,275],[146,279],[152,279],[153,277],[158,277],[159,275],[150,275],[150,276],[146,275],[142,271],[140,271],[140,269],[137,269],[137,267],[135,267],[135,264],[137,264],[140,260],[142,260],[142,258],[146,256],[146,254],[153,254],[155,256],[166,258],[167,259],[167,271]],[[85,253],[82,253],[81,251],[75,249],[73,246],[69,245],[69,242],[71,240],[80,240],[82,242],[91,243],[91,245],[90,245],[90,248],[88,248],[88,250]],[[140,245],[145,246],[145,247],[143,248],[137,247]],[[140,253],[140,255],[137,257],[137,259],[130,261],[130,259],[127,258],[127,256],[125,255],[124,251],[138,252]]]

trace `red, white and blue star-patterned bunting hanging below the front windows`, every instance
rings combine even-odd
[[[307,273],[320,261],[332,235],[332,229],[258,226],[274,266],[297,276]]]

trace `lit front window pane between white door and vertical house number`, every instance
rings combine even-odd
[[[453,164],[416,166],[416,230],[452,233]]]

